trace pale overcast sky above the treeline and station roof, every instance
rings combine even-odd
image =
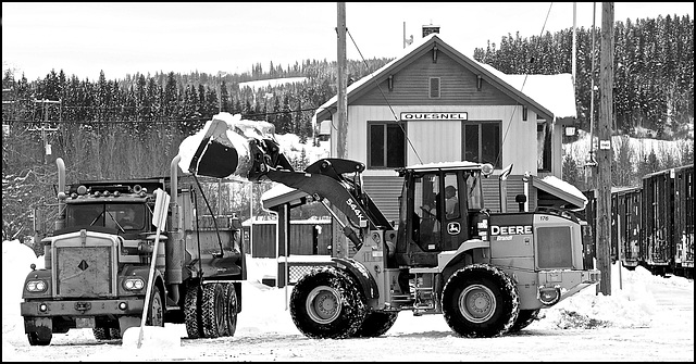
[[[593,3],[576,7],[579,27],[593,23]],[[548,15],[548,17],[547,17]],[[694,16],[694,2],[617,2],[614,21]],[[440,34],[467,55],[522,37],[573,25],[572,2],[348,2],[350,60],[394,58],[421,27]],[[597,26],[601,2],[596,3]],[[260,63],[285,68],[302,60],[335,61],[336,2],[2,2],[2,70],[28,79],[51,70],[108,79],[136,72],[248,72]],[[353,45],[353,40],[355,43]],[[360,53],[358,52],[360,51]]]

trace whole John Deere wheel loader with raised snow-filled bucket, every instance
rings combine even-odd
[[[401,311],[442,314],[462,337],[496,337],[521,330],[539,310],[599,281],[583,255],[592,243],[588,225],[575,212],[525,212],[524,194],[517,212],[507,212],[506,203],[496,213],[484,205],[482,179],[492,176],[490,164],[397,168],[403,184],[393,224],[365,191],[364,163],[326,158],[295,171],[273,136],[240,131],[234,121],[213,118],[182,170],[303,191],[326,206],[356,251],[332,258],[293,288],[290,315],[307,337],[381,336]],[[511,170],[499,175],[501,197]],[[440,193],[449,186],[453,201]]]

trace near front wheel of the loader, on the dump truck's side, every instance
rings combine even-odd
[[[298,279],[290,294],[295,326],[313,339],[344,339],[365,318],[360,286],[346,273],[324,266]]]

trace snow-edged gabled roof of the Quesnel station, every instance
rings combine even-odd
[[[518,81],[519,76],[524,77],[524,75],[506,75],[493,68],[492,66],[476,62],[473,59],[470,59],[464,54],[460,53],[455,48],[446,43],[445,41],[443,41],[443,39],[440,38],[440,35],[436,33],[433,33],[431,35],[427,35],[426,37],[421,38],[419,42],[414,42],[410,47],[406,48],[403,50],[403,53],[400,57],[397,57],[391,62],[382,66],[380,70],[373,72],[372,74],[365,77],[362,77],[358,81],[350,85],[346,90],[348,104],[350,104],[352,100],[356,100],[360,96],[371,90],[373,87],[375,87],[376,84],[384,81],[389,75],[395,74],[399,70],[410,64],[413,60],[421,57],[423,53],[432,50],[435,45],[437,45],[438,51],[446,52],[449,57],[451,57],[455,61],[459,62],[462,66],[481,75],[481,77],[483,77],[485,81],[487,81],[488,84],[495,87],[498,87],[504,92],[506,92],[506,95],[510,96],[517,102],[529,105],[529,108],[532,111],[539,114],[543,118],[552,121],[555,117],[569,117],[569,116],[575,117],[576,116],[574,113],[575,97],[574,97],[574,90],[572,89],[572,78],[570,83],[566,79],[570,77],[570,74],[527,75],[526,80]],[[548,87],[545,88],[543,87],[543,85],[546,83],[540,81],[542,79],[554,79],[558,85],[561,85],[564,81],[566,84],[570,85],[570,90],[572,91],[572,93],[570,95],[568,93],[567,87],[563,89],[563,92],[559,92],[559,90],[557,89],[558,86],[556,87],[551,86],[552,88],[550,89]],[[522,85],[524,85],[524,87],[521,87]],[[536,85],[536,86],[532,87],[532,85]],[[520,88],[524,90],[524,92],[520,91]],[[527,92],[527,90],[530,89],[534,89],[538,91]],[[532,98],[530,93],[534,93],[534,98]],[[555,95],[554,101],[548,100],[549,98],[547,97],[546,99],[544,99],[545,101],[544,103],[539,102],[538,100],[539,98],[544,98],[544,95],[549,95],[549,93]],[[555,108],[554,110],[556,111],[556,113],[551,111],[551,108],[557,105],[556,100],[559,99],[558,98],[559,95],[567,96],[566,98],[563,98],[563,99],[567,99],[563,105],[567,105],[569,102],[568,100],[570,100],[570,103],[572,103],[572,108],[571,108],[572,114],[569,111],[569,108],[564,108],[562,111],[558,108]],[[316,116],[316,121],[324,121],[330,118],[332,114],[330,110],[336,110],[337,101],[338,101],[338,96],[336,95],[333,98],[331,98],[328,101],[326,101],[324,104],[322,104],[314,114]]]

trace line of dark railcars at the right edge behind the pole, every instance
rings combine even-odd
[[[596,191],[585,191],[596,249]],[[694,276],[694,165],[643,176],[641,186],[611,189],[611,260],[654,274]],[[621,248],[621,249],[619,249]]]

